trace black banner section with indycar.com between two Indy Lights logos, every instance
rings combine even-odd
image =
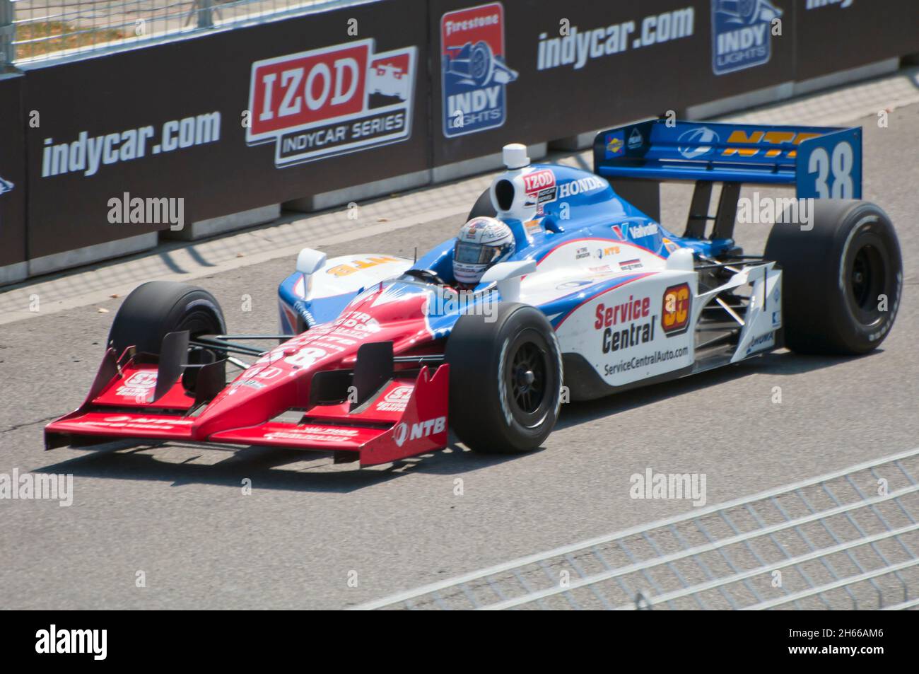
[[[794,77],[793,0],[430,7],[435,166]]]

